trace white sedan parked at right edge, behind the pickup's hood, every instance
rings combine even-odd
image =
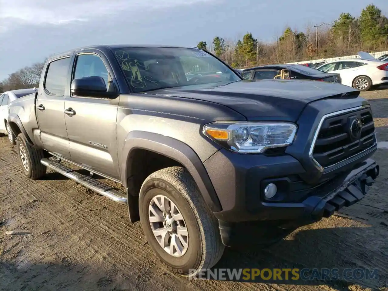
[[[388,61],[379,61],[366,52],[359,52],[360,59],[343,59],[319,66],[317,70],[339,73],[341,83],[360,91],[372,85],[388,83]]]

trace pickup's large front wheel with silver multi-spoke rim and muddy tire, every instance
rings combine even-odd
[[[171,271],[191,277],[220,260],[225,246],[218,221],[185,168],[149,175],[140,189],[139,214],[149,245]]]

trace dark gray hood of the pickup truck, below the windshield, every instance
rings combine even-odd
[[[192,85],[149,93],[215,102],[234,109],[247,120],[282,121],[296,121],[305,106],[315,100],[344,95],[354,98],[360,94],[345,85],[311,80],[241,80],[220,86]]]

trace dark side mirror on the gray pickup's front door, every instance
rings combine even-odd
[[[81,97],[116,98],[117,92],[108,92],[105,80],[100,76],[90,76],[74,79],[71,82],[72,94]]]

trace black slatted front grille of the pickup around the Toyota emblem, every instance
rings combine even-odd
[[[353,120],[357,118],[362,124],[360,135],[350,129]],[[323,168],[355,156],[376,143],[370,107],[330,114],[320,124],[312,156]]]

